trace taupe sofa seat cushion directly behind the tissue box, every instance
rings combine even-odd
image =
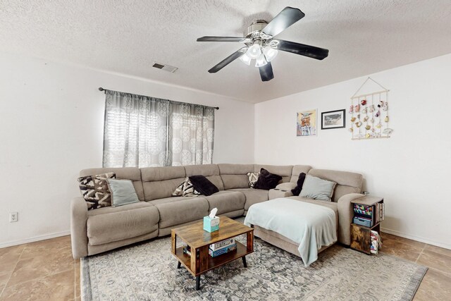
[[[216,215],[243,209],[246,202],[246,197],[242,192],[230,190],[221,190],[205,198],[209,202],[209,211],[218,208]]]

